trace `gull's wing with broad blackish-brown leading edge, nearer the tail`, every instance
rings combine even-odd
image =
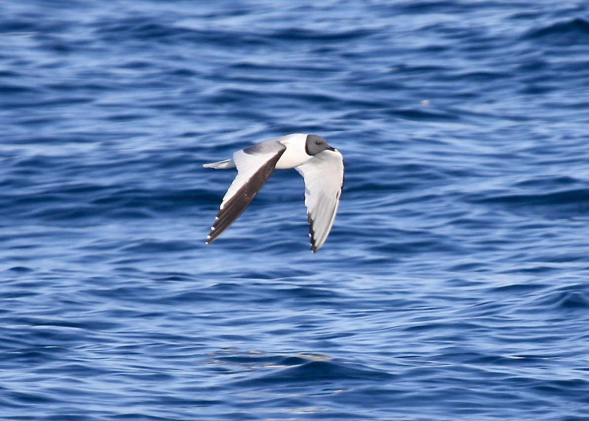
[[[233,154],[237,176],[223,197],[219,213],[207,235],[207,244],[229,228],[252,202],[274,172],[276,162],[285,150],[286,146],[282,143],[263,142]]]

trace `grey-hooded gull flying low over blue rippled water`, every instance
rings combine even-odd
[[[317,252],[332,229],[343,187],[343,157],[316,134],[289,134],[238,150],[233,159],[203,165],[237,168],[223,197],[206,244],[215,241],[256,197],[274,169],[296,169],[305,180],[305,206],[311,251]]]

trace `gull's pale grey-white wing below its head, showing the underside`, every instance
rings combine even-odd
[[[315,253],[325,243],[335,221],[343,188],[343,157],[337,150],[324,150],[296,170],[305,179],[309,236]]]

